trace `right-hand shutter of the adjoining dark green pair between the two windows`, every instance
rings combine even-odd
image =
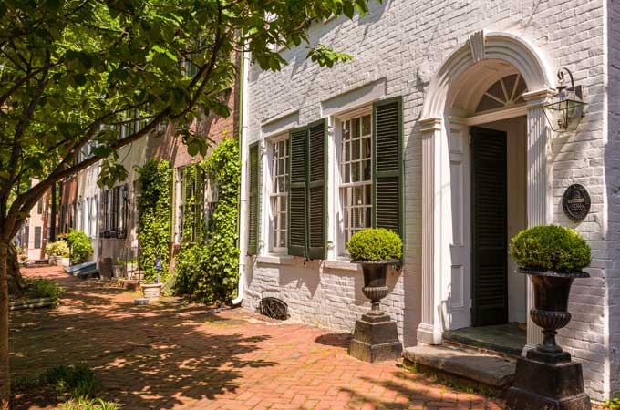
[[[308,127],[308,258],[325,259],[326,200],[326,136],[325,119]]]

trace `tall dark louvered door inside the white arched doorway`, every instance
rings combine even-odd
[[[471,321],[474,326],[508,323],[506,133],[473,127],[470,134]]]

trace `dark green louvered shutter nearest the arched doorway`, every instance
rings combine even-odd
[[[403,235],[402,98],[373,105],[373,226]]]

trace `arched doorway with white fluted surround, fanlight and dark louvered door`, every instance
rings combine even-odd
[[[525,319],[532,295],[522,278],[509,282],[507,245],[514,231],[550,220],[542,113],[549,72],[522,39],[478,32],[431,82],[420,119],[421,343],[441,343],[455,327]],[[538,337],[533,326],[528,345]]]

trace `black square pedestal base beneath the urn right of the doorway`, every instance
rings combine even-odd
[[[514,384],[506,394],[511,410],[591,410],[582,366],[570,354],[528,352],[517,360]]]

